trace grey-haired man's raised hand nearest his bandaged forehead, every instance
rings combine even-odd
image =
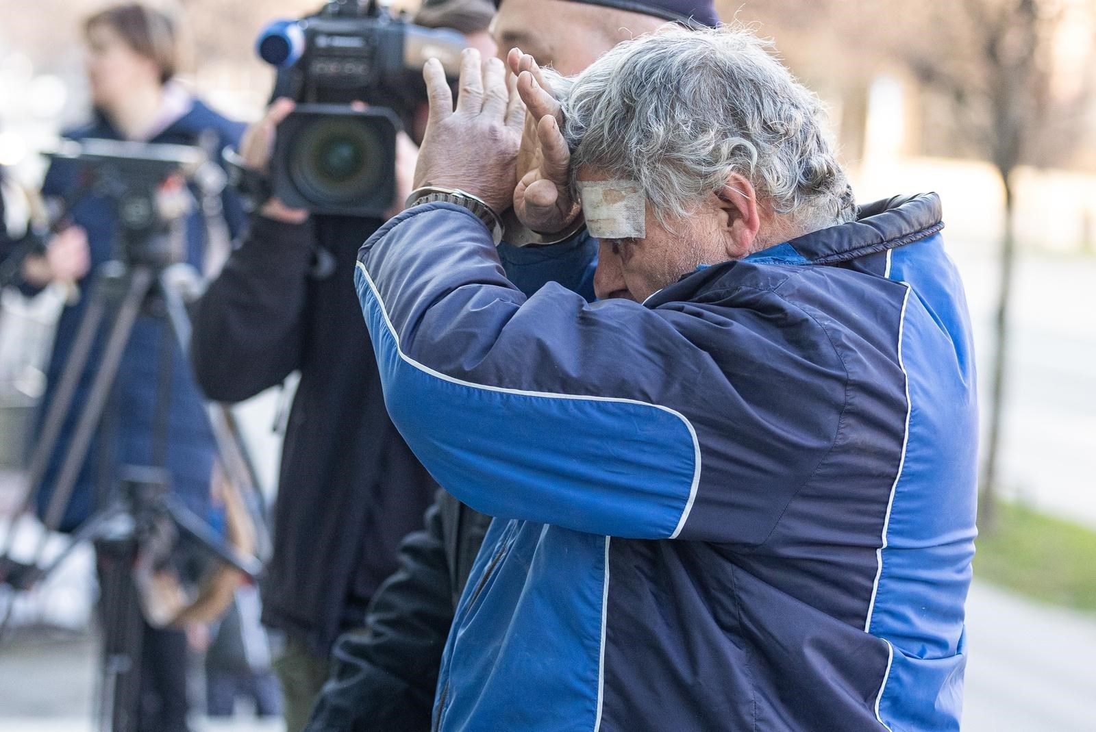
[[[514,213],[528,229],[556,233],[582,213],[568,184],[571,151],[560,131],[562,110],[532,56],[512,48],[506,62],[517,75],[517,92],[528,108],[517,155]]]

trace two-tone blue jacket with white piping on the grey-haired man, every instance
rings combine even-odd
[[[437,729],[958,730],[977,403],[933,194],[643,305],[524,296],[445,204],[362,249],[408,444],[498,518]]]

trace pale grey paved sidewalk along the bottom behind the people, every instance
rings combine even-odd
[[[963,732],[1096,730],[1096,619],[975,583],[968,629]],[[88,638],[0,649],[0,732],[89,732],[93,649]],[[196,732],[221,730],[281,727],[248,719],[195,724]]]

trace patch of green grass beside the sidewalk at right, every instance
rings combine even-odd
[[[975,577],[1096,615],[1096,531],[1002,501],[975,546]]]

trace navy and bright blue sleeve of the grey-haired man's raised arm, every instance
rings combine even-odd
[[[756,544],[833,444],[846,374],[775,291],[718,310],[590,305],[555,283],[526,297],[486,227],[447,204],[389,221],[358,264],[389,413],[482,513]]]

